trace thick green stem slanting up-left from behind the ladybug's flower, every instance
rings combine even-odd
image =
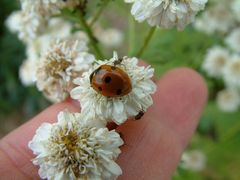
[[[82,28],[84,28],[85,32],[87,33],[89,40],[90,40],[90,44],[91,44],[92,48],[94,49],[97,58],[103,59],[104,58],[103,53],[97,45],[98,40],[94,37],[93,32],[92,32],[90,26],[87,24],[83,14],[79,11],[77,11],[75,14],[77,15],[78,22],[82,25]]]

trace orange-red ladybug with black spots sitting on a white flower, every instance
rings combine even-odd
[[[121,61],[117,60],[113,66],[101,65],[90,75],[90,83],[95,91],[106,97],[122,97],[131,92],[131,80],[126,72],[116,67],[119,63]]]

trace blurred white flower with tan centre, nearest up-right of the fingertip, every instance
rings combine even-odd
[[[219,78],[222,76],[223,68],[230,60],[229,52],[219,46],[214,46],[208,50],[202,68],[211,77]]]

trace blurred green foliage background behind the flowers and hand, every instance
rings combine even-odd
[[[18,68],[25,59],[25,47],[17,36],[11,34],[4,26],[8,15],[19,8],[14,2],[0,1],[0,137],[49,105],[35,87],[23,87],[18,78]],[[138,44],[142,43],[149,26],[137,24],[132,18],[126,17],[129,8],[122,2],[116,3],[117,5],[113,3],[109,5],[105,18],[101,19],[107,26],[117,18],[117,23],[113,25],[127,32],[125,43],[131,44],[120,52],[126,54],[128,51],[131,55],[139,49]],[[119,14],[116,15],[116,12]],[[126,20],[130,24],[130,30],[127,28]],[[217,108],[215,96],[216,92],[223,88],[223,84],[212,81],[201,71],[207,49],[221,43],[221,37],[207,36],[195,31],[191,26],[183,32],[159,29],[143,55],[143,59],[156,68],[158,77],[174,67],[188,66],[200,72],[209,86],[209,103],[188,147],[202,150],[207,156],[207,166],[201,172],[179,170],[173,179],[240,179],[240,112],[223,113]]]

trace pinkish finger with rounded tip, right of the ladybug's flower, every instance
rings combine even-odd
[[[120,179],[171,179],[207,99],[202,78],[186,68],[168,72],[157,86],[143,119],[118,128],[125,141]]]

